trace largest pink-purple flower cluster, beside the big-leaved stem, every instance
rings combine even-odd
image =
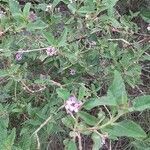
[[[78,101],[75,96],[70,96],[69,99],[65,103],[65,109],[67,113],[76,113],[82,106],[82,102]]]

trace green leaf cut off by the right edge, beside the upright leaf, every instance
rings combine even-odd
[[[136,111],[150,109],[150,95],[144,95],[135,98],[133,102],[133,109]]]

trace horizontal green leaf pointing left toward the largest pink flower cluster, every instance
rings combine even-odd
[[[84,104],[84,108],[86,110],[90,110],[94,107],[97,106],[102,106],[102,105],[107,105],[107,106],[117,106],[116,100],[114,97],[110,96],[103,96],[101,98],[97,99],[90,99]]]

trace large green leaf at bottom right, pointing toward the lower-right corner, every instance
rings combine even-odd
[[[118,123],[115,123],[112,127],[107,126],[104,129],[110,135],[117,137],[126,136],[133,138],[145,138],[145,131],[135,122],[130,120],[124,120]]]

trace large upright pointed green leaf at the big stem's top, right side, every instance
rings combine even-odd
[[[127,103],[127,93],[125,90],[125,84],[121,77],[121,74],[116,70],[114,71],[113,83],[109,87],[108,92],[111,92],[113,97],[116,99],[118,105]]]

